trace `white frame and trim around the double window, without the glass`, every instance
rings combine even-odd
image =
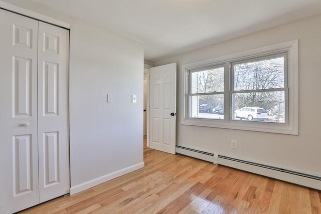
[[[231,78],[233,77],[230,68],[231,63],[285,52],[287,52],[287,72],[284,77],[287,84],[285,98],[287,118],[285,123],[232,120],[231,91],[233,89],[233,81],[231,81]],[[224,73],[224,119],[214,120],[204,118],[190,118],[188,99],[190,71],[206,67],[214,67],[222,64],[225,64],[225,71],[228,71]],[[185,64],[182,65],[182,75],[182,125],[207,126],[216,128],[298,135],[298,40],[292,40],[284,43],[243,51],[240,53]]]

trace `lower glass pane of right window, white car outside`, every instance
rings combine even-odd
[[[285,92],[235,93],[232,96],[233,119],[285,122]]]

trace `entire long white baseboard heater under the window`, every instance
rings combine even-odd
[[[321,177],[215,153],[176,146],[176,152],[198,159],[321,190]]]

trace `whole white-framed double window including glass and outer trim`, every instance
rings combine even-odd
[[[182,66],[182,124],[298,134],[298,41]]]

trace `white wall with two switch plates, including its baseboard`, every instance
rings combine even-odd
[[[143,44],[29,0],[5,2],[71,25],[72,192],[142,167]]]

